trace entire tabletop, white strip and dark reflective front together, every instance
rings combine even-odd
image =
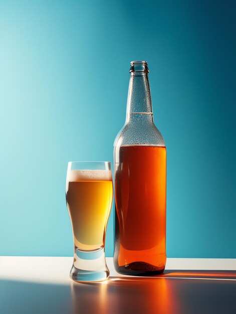
[[[168,258],[163,275],[75,283],[73,257],[0,256],[1,314],[236,313],[236,259]]]

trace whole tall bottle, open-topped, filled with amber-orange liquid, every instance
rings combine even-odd
[[[114,142],[116,271],[162,273],[166,252],[166,148],[153,122],[145,61],[133,61],[124,127]]]

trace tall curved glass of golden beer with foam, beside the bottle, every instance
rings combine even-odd
[[[69,162],[66,201],[74,238],[74,281],[108,278],[105,236],[113,197],[110,162]]]

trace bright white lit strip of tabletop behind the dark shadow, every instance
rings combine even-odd
[[[106,261],[110,276],[127,277],[115,271],[112,257],[107,257]],[[0,279],[70,284],[72,263],[73,257],[0,256]],[[236,259],[167,258],[165,269],[236,270]]]

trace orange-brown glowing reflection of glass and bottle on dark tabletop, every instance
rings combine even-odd
[[[110,277],[100,283],[71,283],[73,314],[177,313],[179,305],[165,278]]]

